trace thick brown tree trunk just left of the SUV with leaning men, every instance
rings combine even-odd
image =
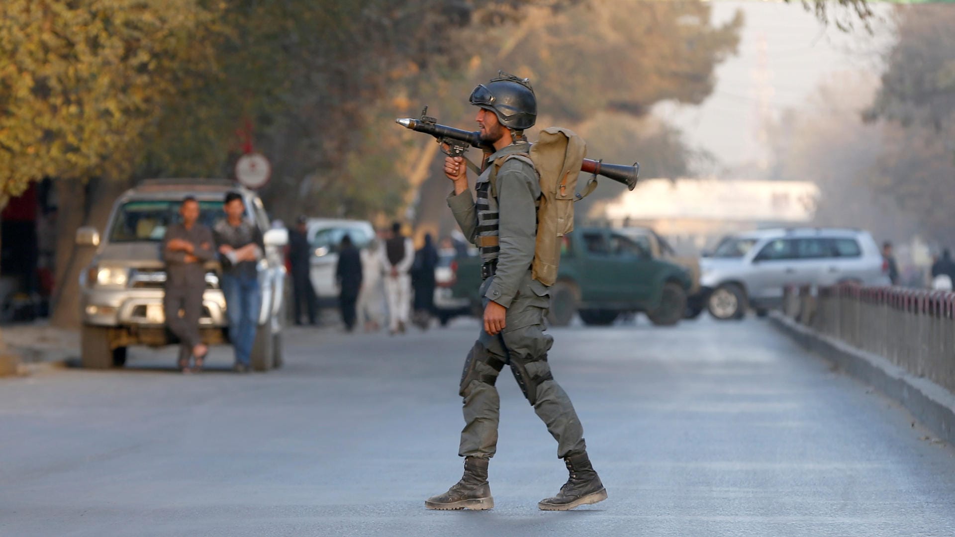
[[[79,328],[79,274],[89,267],[94,247],[77,247],[76,229],[94,226],[106,233],[106,221],[117,196],[128,182],[90,180],[57,181],[56,288],[53,290],[53,315],[50,324],[57,328]]]

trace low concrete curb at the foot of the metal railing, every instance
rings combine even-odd
[[[796,343],[834,362],[851,376],[899,401],[939,438],[955,444],[955,395],[938,384],[914,376],[878,354],[861,351],[836,338],[774,311],[770,323]]]

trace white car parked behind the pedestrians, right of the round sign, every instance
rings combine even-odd
[[[364,220],[309,218],[306,224],[308,245],[311,246],[311,268],[308,275],[311,287],[323,307],[337,306],[338,287],[335,267],[338,265],[338,246],[348,234],[358,249],[368,247],[374,239],[374,227]]]

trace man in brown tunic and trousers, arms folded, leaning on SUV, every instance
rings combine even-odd
[[[182,373],[202,371],[209,348],[202,343],[199,318],[205,291],[206,261],[216,255],[212,231],[199,222],[199,202],[186,196],[180,204],[182,222],[166,229],[162,238],[162,260],[166,263],[162,310],[166,326],[180,340],[179,369]],[[180,315],[181,311],[181,315]],[[193,369],[189,358],[194,360]]]

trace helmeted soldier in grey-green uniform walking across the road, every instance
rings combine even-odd
[[[465,458],[464,475],[444,494],[426,500],[425,506],[494,506],[487,476],[498,443],[500,399],[495,381],[504,365],[510,366],[524,396],[557,440],[558,457],[570,472],[560,492],[538,506],[565,510],[596,504],[606,499],[606,491],[587,458],[584,428],[573,404],[551,375],[547,352],[553,337],[544,333],[543,326],[550,297],[547,286],[531,271],[541,186],[527,158],[530,144],[523,131],[534,125],[537,100],[526,78],[503,74],[487,86],[477,86],[470,100],[479,107],[481,140],[496,150],[477,179],[477,204],[462,158],[445,159],[444,173],[455,185],[448,197],[452,213],[464,235],[480,248],[484,327],[461,375],[465,425],[458,455]]]

